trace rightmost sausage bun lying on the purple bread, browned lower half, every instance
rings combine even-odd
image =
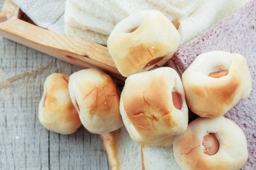
[[[182,74],[188,107],[200,117],[219,117],[249,97],[252,80],[244,57],[224,51],[202,53]]]

